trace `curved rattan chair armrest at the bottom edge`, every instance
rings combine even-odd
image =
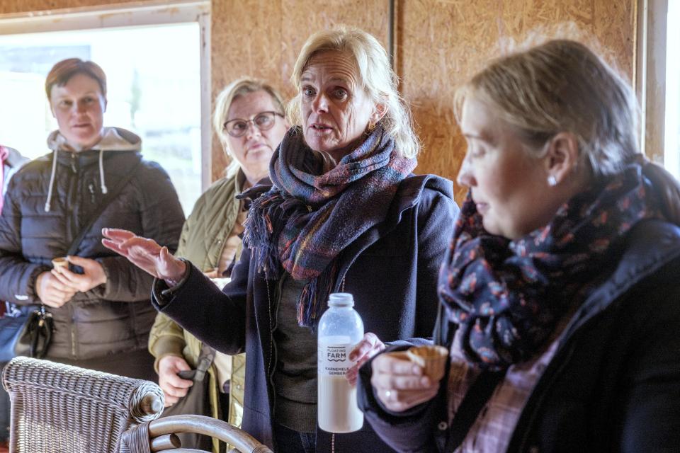
[[[177,434],[194,432],[215,437],[233,448],[229,453],[272,453],[247,432],[204,415],[171,415],[133,426],[123,434],[120,453],[182,453],[204,450],[182,449]]]

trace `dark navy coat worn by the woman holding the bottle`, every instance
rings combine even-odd
[[[385,221],[363,234],[339,256],[344,290],[354,295],[365,331],[384,342],[426,337],[437,313],[438,268],[453,232],[458,207],[453,186],[437,176],[402,181]],[[256,272],[244,251],[220,292],[196,268],[169,298],[154,285],[154,304],[200,340],[227,354],[246,352],[246,394],[242,428],[273,447],[273,304],[278,282]],[[162,305],[159,304],[162,302]],[[391,452],[368,423],[358,432],[334,435],[335,452]],[[317,452],[331,451],[331,435],[317,430]]]

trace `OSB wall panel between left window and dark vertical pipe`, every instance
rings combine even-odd
[[[344,23],[375,35],[387,46],[387,1],[212,0],[212,98],[230,81],[249,75],[266,79],[293,96],[290,74],[305,40],[317,30]],[[215,137],[212,178],[227,157]]]

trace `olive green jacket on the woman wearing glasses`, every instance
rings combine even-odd
[[[212,270],[217,268],[222,248],[227,236],[234,228],[241,203],[235,197],[241,192],[243,174],[221,178],[213,183],[200,196],[182,228],[176,256],[191,261],[197,268]],[[236,260],[241,252],[237,251]],[[198,303],[198,301],[197,301]],[[166,355],[183,357],[191,366],[196,367],[200,355],[201,343],[196,337],[184,331],[177,323],[164,314],[157,314],[154,326],[149,335],[149,352],[156,357],[154,366],[158,371],[158,361]],[[219,405],[217,389],[217,372],[215,366],[209,369],[210,374],[210,406],[212,416],[222,418],[224,408]],[[232,356],[231,390],[229,393],[229,417],[227,421],[240,427],[243,416],[244,381],[246,372],[246,356]],[[213,449],[217,452],[217,442]]]

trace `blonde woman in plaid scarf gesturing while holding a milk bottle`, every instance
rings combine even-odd
[[[316,327],[331,292],[353,294],[369,333],[348,357],[351,383],[383,341],[431,334],[453,185],[412,174],[419,142],[373,36],[312,35],[291,80],[298,126],[273,154],[273,185],[254,190],[250,250],[223,292],[153,241],[105,229],[104,243],[157,277],[159,310],[222,352],[246,351],[244,430],[278,452],[391,452],[368,424],[317,428]]]

